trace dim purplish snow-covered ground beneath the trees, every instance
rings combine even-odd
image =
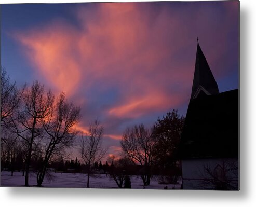
[[[58,187],[58,188],[85,188],[87,184],[87,175],[80,173],[52,173],[53,179],[47,180],[45,178],[43,182],[44,187]],[[21,172],[14,172],[14,176],[8,171],[2,171],[1,173],[1,186],[6,187],[23,187],[25,177]],[[35,186],[36,177],[34,173],[30,174],[29,185]],[[115,181],[106,176],[106,174],[93,174],[90,176],[90,188],[117,188]],[[180,184],[166,185],[158,184],[158,178],[155,176],[150,182],[150,186],[143,186],[143,182],[140,176],[131,177],[132,189],[164,189],[168,186],[168,189],[180,189]]]

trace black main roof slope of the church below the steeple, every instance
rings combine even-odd
[[[190,100],[179,147],[180,158],[238,157],[238,93],[236,89]]]

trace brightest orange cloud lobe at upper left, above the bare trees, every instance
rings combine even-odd
[[[28,48],[27,56],[35,68],[57,91],[70,95],[80,81],[80,68],[72,54],[75,36],[64,30],[65,27],[57,24],[53,30],[51,25],[43,31],[33,30],[17,37]]]

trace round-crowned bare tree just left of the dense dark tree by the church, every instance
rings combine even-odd
[[[143,166],[140,176],[143,185],[150,185],[151,166],[154,161],[155,140],[144,125],[127,128],[120,142],[124,153],[134,164]]]

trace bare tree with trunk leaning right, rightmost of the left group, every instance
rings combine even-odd
[[[42,185],[49,161],[63,158],[65,149],[73,146],[75,136],[78,133],[74,127],[79,119],[80,108],[69,103],[65,99],[64,93],[61,93],[55,105],[50,107],[50,113],[42,119],[46,134],[43,141],[42,166],[37,173],[37,186]]]

